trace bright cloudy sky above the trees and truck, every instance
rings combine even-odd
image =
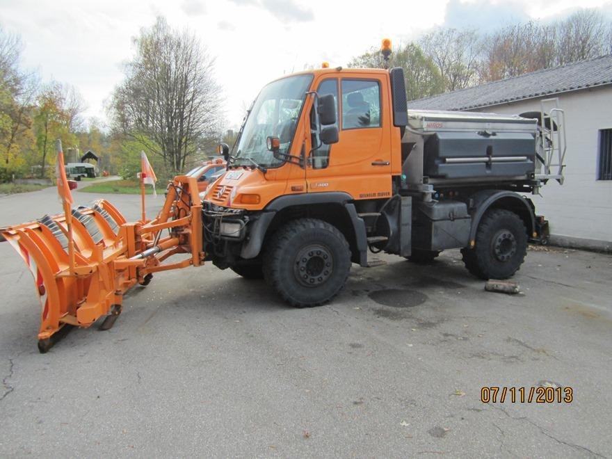
[[[216,59],[227,127],[240,124],[264,84],[305,66],[346,65],[382,38],[409,42],[435,26],[492,31],[562,18],[575,0],[0,0],[0,25],[24,42],[23,65],[75,86],[85,116],[105,106],[134,56],[132,39],[163,15]],[[581,0],[612,17],[612,1]]]

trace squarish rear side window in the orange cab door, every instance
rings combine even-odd
[[[342,80],[342,129],[380,127],[378,81]]]

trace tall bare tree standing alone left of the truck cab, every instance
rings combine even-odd
[[[193,33],[170,29],[163,17],[134,43],[136,56],[113,92],[113,129],[179,172],[218,129],[214,59]]]

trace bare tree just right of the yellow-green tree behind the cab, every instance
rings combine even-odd
[[[435,29],[419,44],[444,79],[444,90],[467,88],[477,81],[481,40],[476,31]]]

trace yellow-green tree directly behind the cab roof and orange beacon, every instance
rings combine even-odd
[[[353,58],[349,67],[383,68],[386,65],[378,49]],[[444,92],[444,80],[433,61],[419,45],[408,43],[397,47],[389,58],[389,67],[402,67],[408,100],[421,99]]]

